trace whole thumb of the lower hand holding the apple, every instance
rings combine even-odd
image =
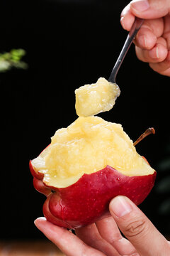
[[[109,209],[120,230],[141,256],[169,255],[169,243],[129,198],[113,198]]]

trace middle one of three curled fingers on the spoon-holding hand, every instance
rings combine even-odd
[[[158,38],[155,46],[151,50],[144,50],[140,47],[135,47],[136,55],[139,60],[147,63],[160,63],[166,59],[168,54],[166,40]]]

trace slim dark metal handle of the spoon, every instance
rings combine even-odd
[[[142,22],[143,22],[142,18],[137,18],[137,17],[135,18],[132,28],[130,29],[130,32],[128,33],[128,37],[126,38],[124,46],[120,52],[120,55],[118,56],[118,60],[116,61],[114,68],[112,70],[112,73],[111,73],[110,77],[108,78],[109,82],[115,83],[115,77],[118,73],[120,65],[123,63],[125,55],[128,52],[128,50],[132,44],[132,41],[137,34],[137,31],[139,31],[140,27],[142,26]]]

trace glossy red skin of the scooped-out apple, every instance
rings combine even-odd
[[[80,228],[109,215],[108,205],[115,196],[128,196],[136,205],[145,200],[157,176],[125,176],[111,166],[92,174],[84,174],[66,188],[46,186],[42,174],[34,171],[34,187],[47,196],[43,206],[45,218],[63,228]]]

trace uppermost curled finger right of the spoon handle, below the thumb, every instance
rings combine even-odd
[[[152,49],[157,43],[157,38],[161,37],[164,32],[163,18],[147,20],[142,24],[140,31],[135,37],[135,45],[142,49]]]

